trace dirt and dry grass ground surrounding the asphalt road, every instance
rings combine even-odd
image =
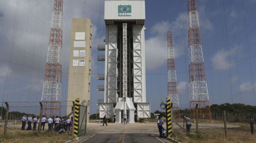
[[[183,122],[179,123],[183,126]],[[59,134],[43,131],[39,135],[35,131],[20,130],[21,124],[9,124],[8,126],[7,135],[5,136],[3,136],[3,126],[0,126],[1,142],[3,143],[64,143],[74,138],[71,133]],[[192,123],[192,127],[195,127],[195,123]],[[250,134],[248,123],[228,123],[227,127],[227,138],[225,138],[223,122],[221,121],[214,121],[212,123],[200,122],[200,132],[198,135],[195,134],[195,128],[192,128],[192,133],[186,134],[177,125],[174,125],[172,138],[175,138],[181,143],[256,143],[256,133],[254,135]],[[80,140],[94,134],[114,134],[121,132],[124,134],[152,133],[159,135],[156,122],[128,123],[125,126],[118,123],[108,123],[108,126],[102,126],[102,123],[90,122],[87,124],[86,136],[80,137]]]

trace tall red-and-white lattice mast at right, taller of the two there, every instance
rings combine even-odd
[[[211,120],[196,0],[188,0],[188,17],[190,117],[195,119],[195,106],[198,104],[198,117]]]

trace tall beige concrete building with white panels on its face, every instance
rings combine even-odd
[[[68,80],[68,101],[80,98],[80,103],[90,101],[90,73],[92,23],[89,19],[72,20],[70,45],[70,64]],[[90,107],[87,108],[87,122],[89,122]],[[71,108],[67,108],[67,114]]]

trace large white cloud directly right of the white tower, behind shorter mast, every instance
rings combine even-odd
[[[184,14],[186,17],[186,14]],[[186,19],[184,19],[186,20]],[[187,25],[187,21],[185,21]],[[172,31],[173,39],[176,36],[182,37],[183,34],[183,15],[180,13],[173,22],[161,21],[154,24],[151,33],[154,36],[145,40],[146,68],[154,70],[162,66],[167,61],[167,31]],[[184,54],[183,43],[176,44],[173,42],[175,58]]]

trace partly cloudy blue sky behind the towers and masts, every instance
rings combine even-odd
[[[197,0],[210,104],[256,105],[256,0]],[[40,101],[53,0],[0,0],[0,101]],[[180,107],[189,105],[187,0],[145,0],[146,101],[160,110],[167,95],[167,31],[174,40]],[[64,0],[62,95],[67,100],[72,18],[93,23],[90,114],[104,62],[104,0]],[[15,109],[13,109],[15,110]],[[24,108],[20,109],[21,111]],[[25,112],[29,112],[26,109]]]

